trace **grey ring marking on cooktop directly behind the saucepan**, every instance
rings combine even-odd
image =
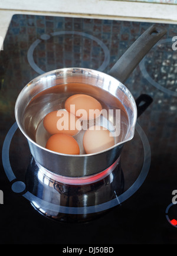
[[[87,38],[89,38],[89,39],[91,39],[93,41],[96,41],[96,43],[99,44],[99,46],[104,51],[103,63],[101,64],[101,66],[97,70],[102,72],[104,69],[106,69],[106,67],[107,67],[107,65],[109,64],[109,61],[110,61],[110,52],[109,52],[109,49],[107,48],[106,44],[103,43],[103,41],[99,40],[97,37],[94,37],[93,35],[90,35],[90,34],[87,34],[87,33],[83,33],[83,32],[79,32],[79,31],[57,31],[57,32],[51,33],[50,35],[51,36],[55,36],[55,35],[63,35],[63,34],[81,35],[83,37],[87,37]],[[50,35],[42,34],[40,38],[42,40],[48,40],[51,37]],[[38,44],[40,44],[42,40],[40,40],[40,39],[35,40],[31,44],[30,48],[28,49],[28,53],[27,53],[27,59],[28,59],[28,62],[30,63],[30,66],[38,74],[44,74],[45,72],[44,72],[44,70],[40,69],[40,67],[38,67],[37,64],[35,63],[34,58],[33,58],[33,53],[34,53],[35,47],[37,47]]]

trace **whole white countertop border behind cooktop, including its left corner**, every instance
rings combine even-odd
[[[177,24],[177,4],[107,0],[1,0],[1,38],[5,38],[12,16],[15,14]],[[0,49],[2,47],[3,40],[0,41]]]

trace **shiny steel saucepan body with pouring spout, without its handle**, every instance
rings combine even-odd
[[[86,154],[82,146],[85,129],[81,129],[74,136],[80,145],[79,155],[47,150],[45,144],[48,135],[42,125],[44,116],[51,111],[64,109],[66,99],[78,93],[90,95],[101,102],[107,119],[99,119],[99,122],[105,127],[109,124],[106,128],[112,131],[117,128],[113,134],[115,144],[99,153]],[[83,177],[104,171],[117,161],[123,144],[133,138],[137,109],[132,93],[109,74],[91,69],[67,68],[42,74],[28,83],[17,98],[15,118],[37,163],[62,176]]]

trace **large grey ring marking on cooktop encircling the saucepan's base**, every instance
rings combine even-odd
[[[12,137],[14,136],[17,128],[18,128],[18,125],[15,122],[14,125],[12,125],[12,127],[9,129],[2,147],[2,164],[4,166],[6,176],[10,181],[12,181],[13,179],[16,179],[11,168],[11,163],[9,161],[9,147],[11,144]],[[68,213],[86,214],[86,213],[101,212],[103,210],[107,210],[107,209],[113,208],[114,206],[119,205],[120,203],[124,202],[124,200],[127,200],[139,189],[139,187],[145,181],[150,168],[151,151],[150,151],[148,138],[146,137],[145,132],[143,131],[143,129],[140,127],[138,123],[136,123],[136,131],[138,132],[142,140],[143,148],[144,148],[143,167],[136,181],[122,195],[116,196],[114,199],[110,200],[109,202],[101,203],[100,205],[86,206],[86,207],[80,207],[80,208],[55,205],[54,203],[46,202],[45,200],[42,200],[37,196],[32,195],[32,193],[28,191],[24,193],[22,196],[28,199],[32,204],[34,204],[34,206],[35,204],[37,204],[37,205],[40,205],[41,208],[45,208],[46,210],[48,209],[48,210],[53,210],[54,212],[57,212],[57,213],[60,212],[60,213],[67,213],[67,214]]]

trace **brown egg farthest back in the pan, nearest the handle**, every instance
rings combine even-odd
[[[71,106],[71,105],[74,105]],[[100,111],[102,109],[102,106],[97,99],[94,99],[93,97],[86,95],[86,94],[76,94],[70,96],[65,101],[65,109],[70,112],[73,115],[76,115],[81,120],[89,120],[93,118],[97,118],[97,116],[100,115]],[[97,109],[97,112],[96,112]],[[90,112],[89,114],[89,111]],[[91,113],[94,112],[94,115],[91,115]]]

